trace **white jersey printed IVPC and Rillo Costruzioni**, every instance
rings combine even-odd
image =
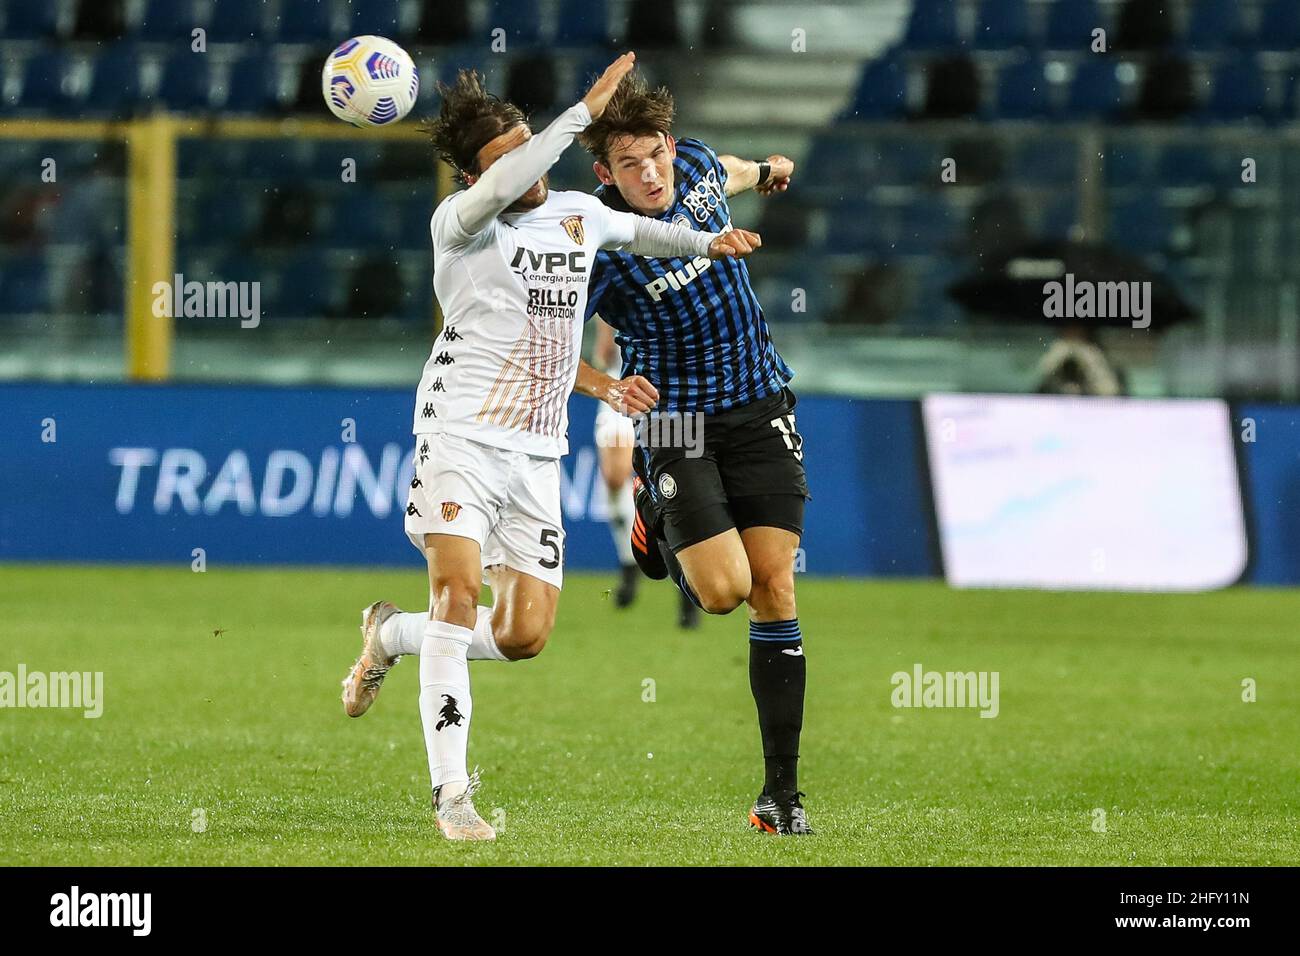
[[[416,394],[415,433],[559,458],[577,376],[586,286],[602,246],[632,242],[634,220],[586,193],[551,193],[477,235],[447,196],[433,213],[433,287],[442,333]]]

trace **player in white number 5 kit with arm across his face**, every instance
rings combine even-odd
[[[442,87],[434,146],[468,189],[430,224],[443,329],[416,392],[416,459],[406,532],[429,564],[429,610],[363,611],[363,650],[343,680],[359,717],[403,654],[420,656],[420,717],[438,827],[448,839],[495,834],[471,800],[467,661],[541,652],[563,579],[559,458],[577,376],[586,291],[599,248],[640,255],[746,255],[745,230],[701,233],[549,190],[547,170],[599,116],[634,56],[619,57],[578,104],[536,137],[524,114],[462,70]],[[632,376],[601,398],[646,411],[653,386]],[[478,606],[484,581],[491,607]]]

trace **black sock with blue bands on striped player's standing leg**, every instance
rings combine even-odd
[[[798,788],[800,731],[807,662],[800,622],[750,622],[749,688],[763,735],[763,792],[792,796]]]

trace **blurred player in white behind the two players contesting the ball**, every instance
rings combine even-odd
[[[614,341],[614,329],[594,317],[595,347],[593,359],[597,368],[603,368],[612,380],[623,377],[623,358]],[[614,589],[614,604],[627,607],[637,598],[641,583],[641,570],[632,554],[632,538],[640,533],[642,542],[645,531],[633,531],[636,503],[632,492],[632,449],[637,433],[633,419],[620,414],[614,406],[602,402],[595,412],[595,449],[601,460],[601,479],[604,481],[607,498],[607,522],[614,549],[619,555],[619,585]],[[694,628],[699,626],[699,609],[686,596],[679,593],[677,626]]]

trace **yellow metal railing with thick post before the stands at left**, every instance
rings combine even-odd
[[[170,282],[176,263],[176,152],[187,137],[229,139],[420,139],[415,125],[356,129],[318,118],[214,118],[155,113],[138,120],[4,120],[3,139],[116,139],[126,144],[126,376],[165,381],[172,372],[170,316],[153,315],[153,284]],[[438,195],[452,189],[438,166]],[[437,321],[437,319],[436,319]]]

